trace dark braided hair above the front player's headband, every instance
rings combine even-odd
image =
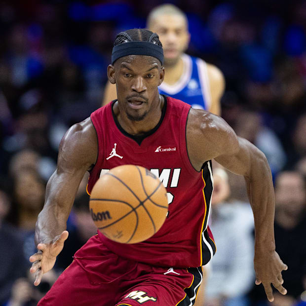
[[[162,47],[158,35],[147,29],[131,29],[120,32],[115,38],[114,47],[129,41],[148,41]]]

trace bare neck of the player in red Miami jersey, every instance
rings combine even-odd
[[[158,124],[163,106],[164,99],[161,95],[157,94],[151,109],[148,111],[145,118],[140,121],[130,120],[125,112],[120,110],[118,102],[115,103],[113,110],[119,124],[127,133],[131,135],[142,135],[152,130]]]

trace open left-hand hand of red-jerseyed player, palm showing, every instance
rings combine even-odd
[[[30,257],[30,262],[33,263],[30,272],[36,272],[35,286],[39,285],[42,275],[53,268],[56,257],[62,251],[67,238],[68,231],[64,230],[49,243],[38,243],[38,252]]]

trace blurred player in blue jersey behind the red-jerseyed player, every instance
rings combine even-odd
[[[186,14],[173,4],[159,5],[149,14],[147,28],[158,34],[164,50],[166,73],[159,93],[182,100],[192,108],[221,115],[223,74],[216,66],[184,53],[190,41]],[[103,105],[116,97],[115,84],[108,82]]]

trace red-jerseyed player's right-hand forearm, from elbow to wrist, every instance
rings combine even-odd
[[[268,161],[263,153],[253,159],[251,173],[245,176],[250,204],[254,214],[255,250],[274,251],[274,189]]]

